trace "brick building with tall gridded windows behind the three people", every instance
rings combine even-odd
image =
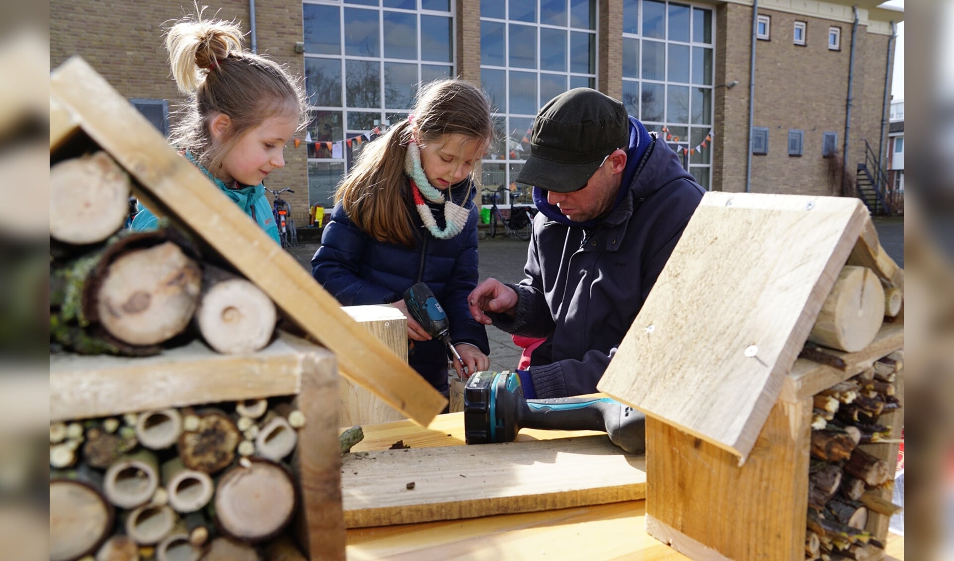
[[[865,140],[878,150],[890,22],[903,15],[861,5],[762,0],[754,13],[745,0],[259,0],[258,51],[303,74],[313,109],[269,186],[296,190],[299,220],[310,205],[330,206],[363,144],[406,116],[419,85],[460,75],[492,100],[482,180],[516,187],[505,203],[529,201],[513,180],[533,116],[576,87],[623,101],[707,189],[851,195],[832,170],[850,177]],[[249,27],[248,2],[214,8]],[[180,99],[161,27],[182,10],[168,0],[54,0],[52,65],[84,56],[161,128],[163,103]]]

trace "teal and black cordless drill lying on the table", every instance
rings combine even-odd
[[[464,389],[467,444],[510,442],[517,431],[604,431],[610,441],[633,454],[646,452],[646,417],[608,397],[524,399],[516,372],[480,371]]]

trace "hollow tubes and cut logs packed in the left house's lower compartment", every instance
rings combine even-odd
[[[283,461],[304,422],[273,398],[52,423],[51,559],[259,559],[287,549],[270,543],[297,506]],[[242,443],[250,453],[239,454]]]

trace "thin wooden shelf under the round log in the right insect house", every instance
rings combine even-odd
[[[843,380],[859,374],[871,367],[871,364],[898,351],[904,346],[904,325],[885,323],[881,331],[875,336],[863,351],[841,352],[826,350],[829,354],[840,357],[845,363],[845,370],[819,364],[805,358],[799,358],[792,366],[792,372],[785,376],[778,399],[791,403],[798,403],[806,397],[811,397],[826,388],[831,388]]]

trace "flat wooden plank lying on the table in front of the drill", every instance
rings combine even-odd
[[[550,511],[645,494],[643,456],[626,454],[606,435],[342,456],[347,528]]]

